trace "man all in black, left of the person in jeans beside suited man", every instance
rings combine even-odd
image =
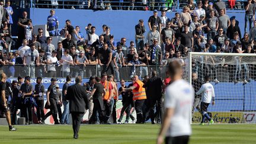
[[[50,105],[50,111],[52,112],[53,119],[55,124],[59,124],[57,120],[57,88],[56,88],[56,78],[51,79],[51,84],[47,89],[46,97],[47,97],[47,105]],[[44,120],[46,118],[44,117]]]

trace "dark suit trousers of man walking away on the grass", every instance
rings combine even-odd
[[[74,136],[78,136],[78,132],[81,125],[81,119],[84,116],[82,112],[71,112],[72,116],[72,127]]]

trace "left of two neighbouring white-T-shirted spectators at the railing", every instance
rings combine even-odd
[[[52,55],[47,57],[47,73],[49,73],[50,78],[56,77],[56,68],[55,65],[57,65],[57,52],[56,50],[53,50]]]

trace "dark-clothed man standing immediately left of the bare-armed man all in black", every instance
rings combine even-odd
[[[42,120],[44,117],[44,85],[41,84],[43,78],[41,76],[37,77],[37,84],[35,85],[34,97],[37,104],[37,120],[39,124],[44,124]]]

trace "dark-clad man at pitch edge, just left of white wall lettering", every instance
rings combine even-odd
[[[24,84],[21,85],[20,93],[24,104],[21,108],[21,117],[25,117],[26,124],[32,124],[32,105],[30,104],[30,96],[33,92],[33,85],[30,83],[30,76],[25,76]]]

